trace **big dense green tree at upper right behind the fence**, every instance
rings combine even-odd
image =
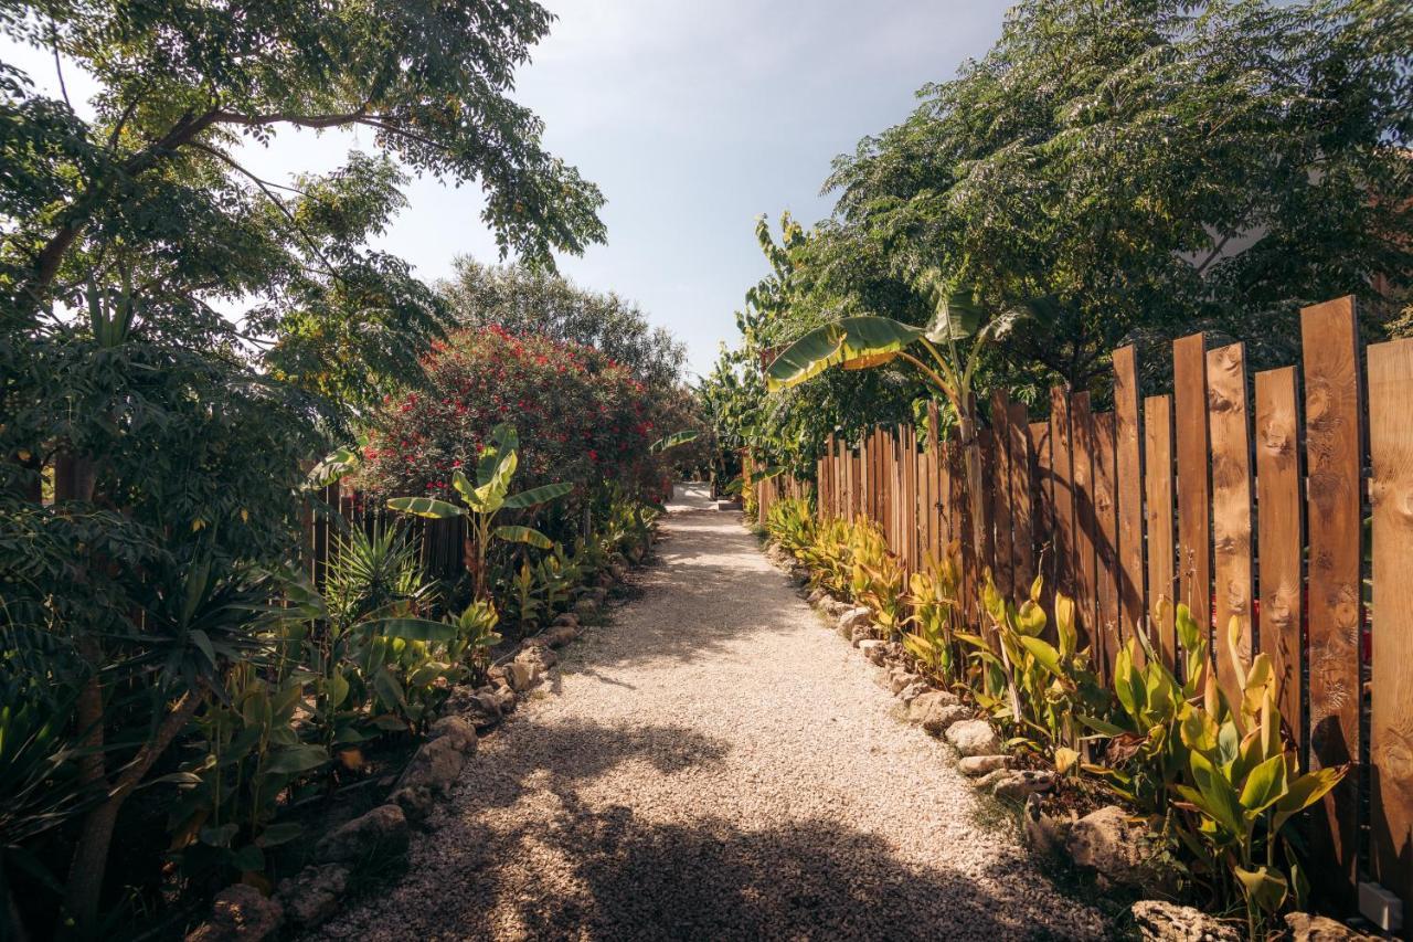
[[[1413,14],[1396,0],[1027,0],[835,163],[839,225],[903,273],[1056,317],[1002,352],[1072,386],[1198,328],[1289,362],[1301,303],[1413,277]],[[875,313],[893,314],[877,310]]]

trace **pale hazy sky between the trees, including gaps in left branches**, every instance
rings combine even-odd
[[[547,124],[545,147],[608,199],[608,245],[561,259],[577,283],[617,291],[688,345],[706,372],[733,311],[766,273],[752,233],[764,212],[810,223],[829,161],[901,120],[924,83],[951,78],[1000,33],[999,0],[544,0],[558,14],[514,98]],[[0,45],[49,88],[52,61]],[[82,76],[65,76],[72,98]],[[78,102],[75,102],[78,105]],[[243,160],[271,180],[336,167],[372,134],[283,132]],[[456,255],[496,260],[475,187],[415,180],[377,240],[435,280]]]

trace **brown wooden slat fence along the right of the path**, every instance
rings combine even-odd
[[[1303,365],[1251,376],[1242,344],[1173,344],[1173,392],[1139,389],[1113,354],[1113,410],[1057,388],[1048,419],[996,393],[979,433],[992,526],[972,550],[961,448],[911,426],[831,438],[822,516],[869,518],[907,570],[958,540],[964,604],[981,573],[1022,594],[1036,574],[1077,601],[1108,672],[1135,631],[1169,663],[1173,604],[1214,629],[1219,682],[1267,652],[1282,709],[1314,768],[1352,764],[1313,851],[1331,897],[1359,880],[1413,904],[1413,339],[1359,349],[1352,298],[1301,313]],[[1147,395],[1145,395],[1147,393]],[[935,426],[934,426],[935,427]],[[759,485],[762,521],[791,482]],[[1372,537],[1372,539],[1371,539]],[[1368,593],[1366,593],[1368,590]],[[1160,604],[1167,603],[1167,604]]]

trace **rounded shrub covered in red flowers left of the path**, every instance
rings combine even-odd
[[[490,430],[520,434],[516,491],[569,481],[569,502],[617,482],[650,498],[661,467],[649,446],[653,405],[643,383],[592,347],[513,337],[499,327],[466,330],[434,345],[428,392],[384,403],[365,450],[365,484],[383,494],[454,495],[452,471],[472,471]]]

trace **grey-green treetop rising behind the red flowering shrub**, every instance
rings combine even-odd
[[[456,259],[438,286],[452,315],[466,327],[500,327],[517,337],[540,334],[561,344],[596,347],[643,383],[666,390],[681,382],[687,351],[617,294],[578,287],[552,272],[520,264],[487,266]]]

